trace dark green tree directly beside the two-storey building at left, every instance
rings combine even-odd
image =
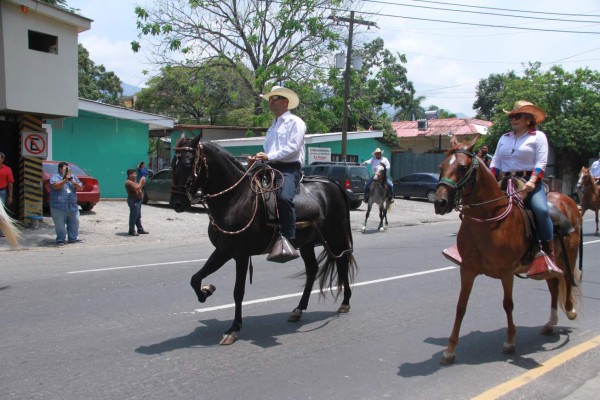
[[[119,105],[123,97],[121,80],[104,65],[96,65],[90,60],[90,53],[79,44],[79,97]]]

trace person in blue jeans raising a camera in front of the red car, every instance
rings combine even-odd
[[[79,206],[77,190],[83,189],[81,181],[71,175],[69,164],[58,164],[58,172],[50,177],[50,214],[54,221],[56,245],[80,243],[79,239]]]

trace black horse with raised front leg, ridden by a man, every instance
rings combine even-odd
[[[267,223],[269,215],[263,196],[264,175],[260,172],[269,169],[256,164],[245,169],[226,150],[216,144],[203,143],[200,136],[180,139],[174,150],[170,206],[177,212],[184,211],[193,195],[200,190],[211,220],[208,236],[215,250],[191,279],[198,301],[204,303],[215,289],[212,285],[203,286],[202,280],[227,261],[235,260],[235,317],[220,342],[232,344],[242,327],[242,301],[249,268],[252,274],[250,256],[264,254],[276,234],[276,224]],[[352,255],[347,195],[330,180],[310,181],[304,185],[316,200],[320,212],[318,218],[303,223],[300,223],[301,213],[297,217],[299,223],[293,244],[300,249],[304,260],[306,282],[300,303],[292,311],[289,321],[298,321],[302,311],[307,309],[316,279],[319,280],[321,295],[327,289],[333,292],[334,283],[337,287],[336,299],[343,289],[338,312],[348,312],[352,295],[350,283],[357,268]],[[323,244],[324,249],[317,259],[314,247],[319,244]]]

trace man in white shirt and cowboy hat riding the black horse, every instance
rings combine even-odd
[[[250,157],[250,162],[268,161],[271,167],[281,172],[282,175],[277,174],[275,180],[278,187],[277,208],[281,234],[288,240],[294,240],[296,209],[293,200],[302,178],[306,124],[300,117],[292,115],[289,111],[300,104],[298,95],[292,90],[273,86],[269,93],[260,96],[269,102],[275,120],[267,131],[264,152],[258,152],[254,157]]]

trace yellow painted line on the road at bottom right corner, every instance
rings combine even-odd
[[[598,345],[600,345],[600,336],[596,336],[595,338],[590,339],[587,342],[581,343],[580,345],[577,345],[569,350],[563,351],[559,355],[554,356],[548,361],[546,361],[541,366],[527,371],[521,376],[511,379],[510,381],[504,382],[496,387],[493,387],[490,390],[483,392],[479,396],[473,397],[472,400],[491,400],[504,396],[505,394],[510,393],[513,390],[528,384],[529,382],[532,382],[533,380],[539,378],[545,373],[552,371],[559,365],[566,363],[567,361],[577,357],[582,353],[585,353],[588,350],[593,349]]]

